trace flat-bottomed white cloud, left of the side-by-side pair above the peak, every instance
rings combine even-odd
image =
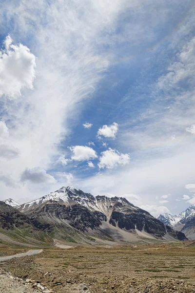
[[[89,146],[70,146],[70,150],[73,152],[71,157],[74,161],[87,161],[90,159],[98,158],[96,151]]]

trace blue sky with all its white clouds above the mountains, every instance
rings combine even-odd
[[[195,204],[195,1],[0,1],[0,200]]]

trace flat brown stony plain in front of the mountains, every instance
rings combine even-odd
[[[195,247],[187,243],[56,248],[3,267],[56,293],[195,292]]]

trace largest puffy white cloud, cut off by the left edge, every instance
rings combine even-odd
[[[8,35],[5,50],[0,51],[0,96],[15,99],[23,88],[33,89],[35,79],[35,55],[22,44],[13,45]]]

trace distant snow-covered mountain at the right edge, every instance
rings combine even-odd
[[[157,219],[163,224],[185,233],[188,238],[195,239],[195,205],[177,215],[160,214]]]

